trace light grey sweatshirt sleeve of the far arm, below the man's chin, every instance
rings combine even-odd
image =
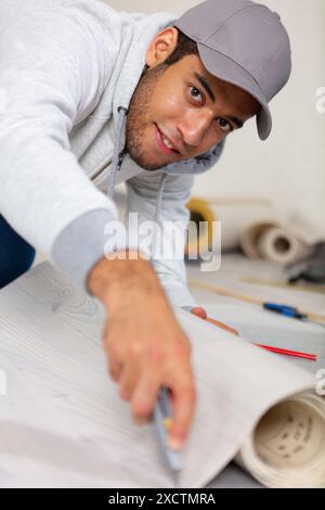
[[[150,225],[155,220],[160,182],[160,170],[144,171],[127,181],[127,226],[128,215],[135,213],[140,232],[139,241],[142,240],[141,225],[145,226],[146,221]],[[186,203],[190,200],[194,176],[192,175],[169,174],[167,176],[159,207],[159,225],[162,230],[161,233],[157,231],[156,238],[157,246],[160,247],[157,252],[158,256],[152,259],[167,297],[176,306],[196,305],[186,284],[184,264],[185,229],[190,218]],[[145,245],[142,245],[141,251],[146,255],[150,253]]]

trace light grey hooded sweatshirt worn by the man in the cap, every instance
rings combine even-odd
[[[118,219],[115,184],[126,182],[126,217],[186,222],[194,175],[222,152],[147,171],[123,151],[147,47],[174,20],[100,0],[0,2],[0,214],[78,284]],[[172,304],[195,304],[183,259],[152,263]]]

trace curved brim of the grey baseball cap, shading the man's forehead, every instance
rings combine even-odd
[[[266,98],[255,78],[244,67],[223,53],[211,50],[200,42],[197,42],[197,48],[205,67],[211,75],[236,85],[260,103],[261,107],[256,116],[257,129],[260,139],[266,140],[272,130],[272,116]]]

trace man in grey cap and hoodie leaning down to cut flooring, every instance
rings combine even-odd
[[[120,397],[145,421],[168,386],[170,446],[182,448],[196,394],[170,305],[195,302],[183,260],[107,242],[114,187],[126,181],[127,213],[141,221],[186,222],[194,175],[217,163],[224,139],[253,116],[270,135],[268,103],[290,74],[286,30],[245,0],[208,0],[179,20],[98,0],[4,0],[0,20],[2,286],[36,247],[101,299]]]

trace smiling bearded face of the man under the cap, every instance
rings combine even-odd
[[[258,109],[250,94],[216,78],[197,55],[186,55],[169,67],[162,62],[145,72],[133,92],[127,151],[146,170],[190,160],[238,129]],[[178,151],[165,146],[161,133]]]

